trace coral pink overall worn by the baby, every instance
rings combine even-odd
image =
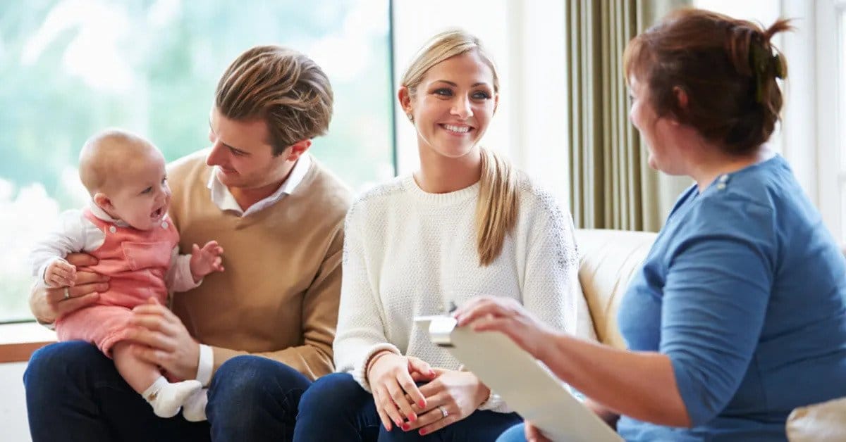
[[[96,304],[59,318],[56,332],[59,341],[92,342],[111,357],[112,346],[126,337],[132,308],[146,303],[150,297],[166,303],[165,276],[173,248],[179,243],[179,233],[167,218],[161,226],[141,231],[102,221],[91,210],[85,210],[84,214],[106,234],[106,240],[91,252],[99,259],[97,265],[79,270],[110,276],[109,289],[100,293]]]

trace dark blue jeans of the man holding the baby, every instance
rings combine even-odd
[[[157,417],[114,368],[82,341],[33,353],[24,374],[33,442],[291,440],[310,380],[265,357],[233,357],[209,385],[208,422]]]

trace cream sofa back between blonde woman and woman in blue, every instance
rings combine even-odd
[[[625,348],[617,326],[617,310],[634,272],[640,270],[656,233],[577,229],[579,281],[591,309],[596,336]]]

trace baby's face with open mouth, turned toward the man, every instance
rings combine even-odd
[[[114,206],[113,215],[139,230],[160,226],[170,207],[162,154],[151,151],[149,155],[128,158],[119,173],[120,183],[108,195]]]

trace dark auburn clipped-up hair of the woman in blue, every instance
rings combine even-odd
[[[626,81],[637,79],[659,117],[695,128],[729,154],[744,155],[770,138],[783,98],[777,78],[787,62],[772,35],[790,30],[779,19],[766,30],[701,9],[680,9],[629,41]],[[680,106],[676,88],[688,96]]]

